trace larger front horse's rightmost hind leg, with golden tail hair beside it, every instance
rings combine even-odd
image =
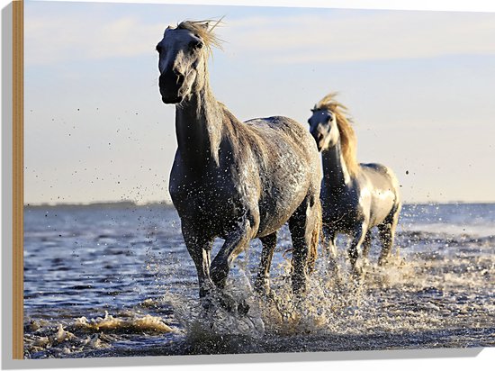
[[[320,228],[320,200],[308,196],[289,219],[289,230],[293,240],[293,294],[306,291],[307,276],[316,260]]]

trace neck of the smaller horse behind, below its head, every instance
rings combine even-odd
[[[330,194],[334,191],[340,193],[343,188],[346,188],[351,183],[351,175],[347,170],[340,140],[337,141],[335,146],[323,150],[321,158],[323,163],[323,185],[330,190]]]

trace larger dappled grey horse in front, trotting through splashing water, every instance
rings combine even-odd
[[[254,238],[263,243],[255,287],[268,294],[285,222],[293,240],[293,292],[301,294],[320,236],[320,155],[300,123],[279,116],[239,122],[217,102],[207,70],[211,47],[220,46],[215,26],[185,21],[167,27],[157,44],[162,101],[175,104],[178,148],[169,191],[200,297],[224,288],[230,264]],[[211,261],[215,238],[225,241]],[[228,295],[220,297],[232,307]]]

